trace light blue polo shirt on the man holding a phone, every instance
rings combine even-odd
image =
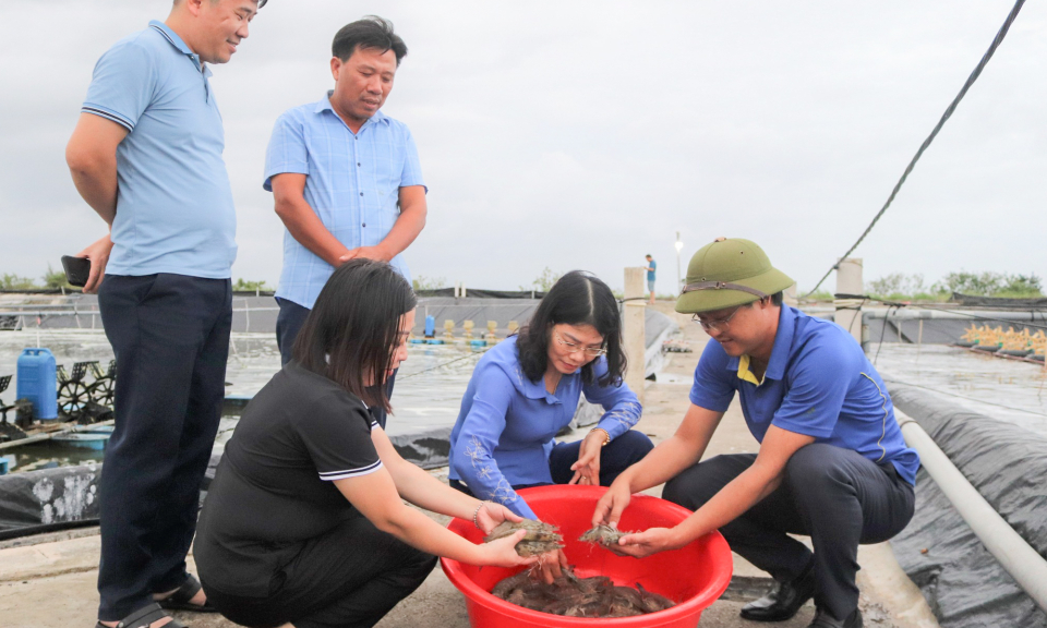
[[[95,65],[81,111],[128,130],[117,146],[111,275],[231,275],[237,215],[210,71],[161,22]]]

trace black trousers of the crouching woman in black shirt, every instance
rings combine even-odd
[[[237,624],[270,628],[374,626],[425,580],[436,557],[386,534],[363,517],[309,541],[273,576],[267,597],[228,595],[203,580],[208,602]]]

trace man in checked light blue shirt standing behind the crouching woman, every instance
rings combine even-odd
[[[406,55],[386,20],[344,26],[332,44],[335,88],[276,121],[263,186],[287,227],[276,291],[285,364],[336,267],[368,257],[390,263],[410,281],[400,253],[425,226],[426,188],[410,130],[381,111]]]

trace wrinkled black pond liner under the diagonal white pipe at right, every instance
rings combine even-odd
[[[905,385],[892,385],[891,398],[992,508],[1047,557],[1047,438]],[[1047,614],[989,554],[923,469],[916,478],[916,514],[891,546],[942,628],[1047,628]]]

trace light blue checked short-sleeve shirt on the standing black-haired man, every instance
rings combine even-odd
[[[286,172],[306,176],[305,202],[348,249],[380,244],[400,216],[400,188],[425,184],[406,124],[377,111],[353,133],[332,108],[330,93],[277,119],[263,188],[272,192],[272,178]],[[410,281],[401,255],[389,263]],[[312,309],[334,271],[285,231],[277,297]]]

